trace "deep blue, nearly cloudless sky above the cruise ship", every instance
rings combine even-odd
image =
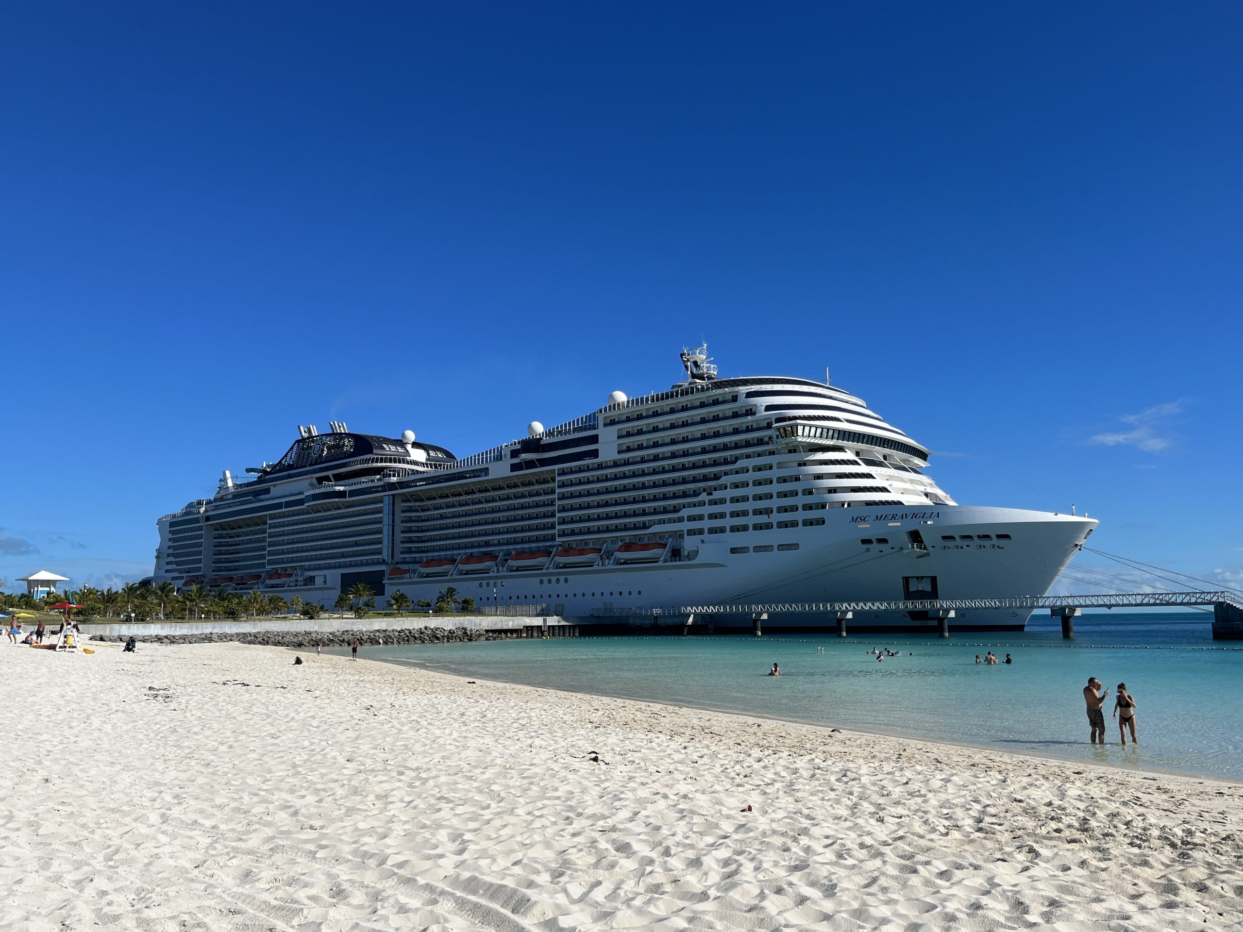
[[[1237,5],[2,25],[0,578],[149,572],[297,424],[469,454],[705,338],[830,367],[960,502],[1243,580]]]

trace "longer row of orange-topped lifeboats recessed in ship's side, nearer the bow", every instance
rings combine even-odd
[[[665,563],[680,560],[682,551],[676,541],[631,541],[604,547],[549,546],[508,553],[469,553],[460,557],[429,557],[414,565],[392,567],[387,582],[482,575],[488,573],[534,573],[552,569],[585,569],[590,567],[628,565],[633,563]]]

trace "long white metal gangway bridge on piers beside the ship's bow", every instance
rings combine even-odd
[[[1234,592],[1112,593],[1109,595],[1012,595],[981,599],[917,599],[912,601],[797,601],[684,605],[674,609],[692,624],[702,615],[751,615],[752,631],[761,634],[768,614],[823,614],[835,618],[838,635],[845,636],[846,623],[855,611],[919,611],[940,621],[940,635],[950,636],[955,611],[967,609],[1048,609],[1062,619],[1062,636],[1074,637],[1074,619],[1083,609],[1190,608],[1213,609],[1213,637],[1243,639],[1243,595]],[[660,614],[660,613],[654,613]]]

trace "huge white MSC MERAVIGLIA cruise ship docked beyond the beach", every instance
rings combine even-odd
[[[609,395],[577,420],[472,456],[415,439],[300,426],[276,462],[227,471],[159,518],[154,580],[331,606],[365,583],[434,603],[653,624],[684,606],[1042,595],[1096,522],[958,505],[929,450],[863,399],[799,378],[721,378],[684,349],[667,391]],[[1021,630],[1030,613],[958,611]],[[751,630],[750,616],[713,616]],[[769,614],[768,631],[835,618]],[[935,630],[926,611],[855,613],[851,630]]]

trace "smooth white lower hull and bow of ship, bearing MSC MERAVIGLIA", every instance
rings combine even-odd
[[[889,508],[896,513],[920,513]],[[935,518],[859,522],[859,514],[842,509],[840,519],[815,528],[784,532],[752,532],[716,543],[701,538],[694,560],[656,564],[626,564],[547,570],[496,573],[486,579],[454,577],[428,584],[405,583],[399,588],[411,600],[435,601],[445,585],[455,585],[459,596],[474,596],[479,606],[547,605],[580,624],[651,624],[653,609],[665,620],[671,613],[696,605],[812,601],[900,601],[906,598],[904,579],[933,578],[941,599],[1043,595],[1079,549],[1096,521],[1049,512],[941,506]],[[859,523],[870,524],[859,529]],[[906,544],[905,532],[920,531],[927,551]],[[774,537],[774,533],[778,534]],[[889,544],[863,546],[860,539],[885,536]],[[992,541],[942,542],[970,534],[988,534]],[[997,534],[1011,539],[998,542]],[[740,547],[797,543],[797,551],[731,553]],[[937,621],[919,613],[855,613],[849,630],[930,631]],[[952,626],[957,630],[1022,630],[1029,611],[960,610]],[[701,615],[715,630],[751,630],[751,618]],[[681,624],[680,620],[676,621]],[[834,629],[835,618],[814,614],[769,613],[764,630]]]

